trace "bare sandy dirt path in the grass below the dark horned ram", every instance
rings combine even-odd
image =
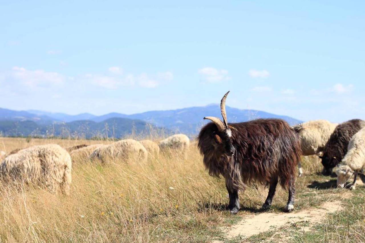
[[[245,217],[241,222],[228,229],[227,238],[234,238],[238,235],[250,237],[262,232],[273,230],[284,226],[287,223],[296,223],[299,221],[310,221],[311,224],[319,222],[327,213],[342,210],[340,201],[326,202],[320,205],[320,208],[306,209],[292,213],[260,213]],[[309,227],[306,227],[309,230]]]

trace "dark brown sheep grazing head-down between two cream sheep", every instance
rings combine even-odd
[[[353,119],[339,124],[330,136],[323,149],[322,159],[323,175],[331,175],[332,169],[343,159],[347,153],[347,146],[351,137],[361,128],[365,127],[365,121]]]

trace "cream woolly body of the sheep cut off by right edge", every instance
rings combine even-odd
[[[365,164],[365,128],[362,128],[351,137],[347,153],[339,166],[347,165],[353,171],[362,169]]]

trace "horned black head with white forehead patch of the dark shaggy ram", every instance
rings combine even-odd
[[[228,93],[229,91],[220,101],[220,111],[222,113],[223,122],[218,117],[204,117],[204,119],[209,119],[216,125],[217,129],[207,131],[209,133],[207,136],[210,138],[210,144],[214,147],[215,153],[220,156],[233,156],[235,153],[231,137],[232,130],[236,129],[227,123],[226,98]]]

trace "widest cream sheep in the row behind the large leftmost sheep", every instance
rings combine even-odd
[[[97,148],[91,155],[90,159],[99,159],[105,163],[108,158],[123,158],[125,160],[147,160],[148,152],[143,145],[133,139],[120,140],[110,145],[104,145]]]

